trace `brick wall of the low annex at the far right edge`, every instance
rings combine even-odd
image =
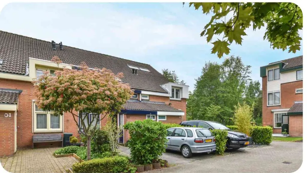
[[[289,115],[289,135],[303,136],[303,115]]]

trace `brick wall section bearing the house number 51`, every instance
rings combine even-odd
[[[4,117],[11,113],[11,117]],[[14,154],[14,111],[0,111],[0,157]]]

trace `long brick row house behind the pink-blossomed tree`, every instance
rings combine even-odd
[[[134,95],[114,115],[118,125],[142,119],[162,123],[186,120],[188,86],[169,82],[149,64],[0,31],[0,157],[13,155],[17,149],[31,148],[34,134],[80,135],[70,113],[56,117],[35,106],[31,82],[44,71],[54,73],[57,65],[50,60],[55,55],[63,61],[60,69],[77,69],[84,61],[90,68],[105,67],[115,74],[124,74],[122,82],[130,84]],[[102,126],[105,123],[106,119],[100,122]],[[124,131],[119,142],[128,139],[129,134]],[[61,146],[61,142],[34,145],[43,146]]]

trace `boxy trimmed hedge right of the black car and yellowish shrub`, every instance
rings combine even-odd
[[[269,145],[272,142],[272,127],[255,126],[251,128],[251,131],[251,137],[254,143]]]

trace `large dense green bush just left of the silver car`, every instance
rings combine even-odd
[[[126,123],[129,130],[131,159],[136,164],[150,164],[165,151],[166,126],[151,119]]]

